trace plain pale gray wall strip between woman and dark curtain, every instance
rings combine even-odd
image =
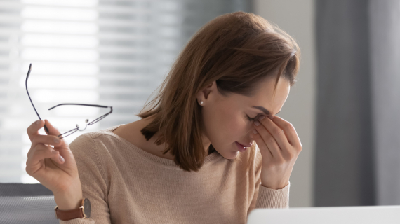
[[[302,142],[302,152],[291,175],[290,207],[314,204],[314,123],[316,64],[313,0],[253,0],[253,13],[261,15],[293,36],[302,54],[298,83],[291,88],[279,116],[292,123]]]

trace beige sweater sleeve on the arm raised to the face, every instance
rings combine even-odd
[[[260,208],[289,208],[289,188],[291,182],[281,189],[271,189],[261,185],[261,164],[262,158],[260,150],[255,153],[255,190],[253,200],[248,209],[248,214],[252,209]]]

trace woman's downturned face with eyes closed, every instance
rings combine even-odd
[[[236,142],[244,146],[251,145],[249,134],[253,132],[253,120],[260,115],[274,116],[281,111],[290,91],[290,83],[280,78],[274,94],[275,77],[267,78],[256,87],[253,97],[240,94],[222,96],[217,90],[215,81],[197,95],[203,101],[202,115],[204,120],[204,146],[213,144],[220,155],[234,159],[239,154]],[[248,149],[248,148],[246,148]]]

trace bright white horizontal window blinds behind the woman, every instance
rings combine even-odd
[[[246,10],[236,1],[0,1],[0,182],[38,183],[25,172],[36,113],[60,132],[109,109],[83,132],[138,120],[190,36],[216,16]],[[40,134],[45,134],[40,130]]]

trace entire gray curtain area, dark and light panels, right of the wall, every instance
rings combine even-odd
[[[400,1],[316,1],[316,206],[400,202]]]

